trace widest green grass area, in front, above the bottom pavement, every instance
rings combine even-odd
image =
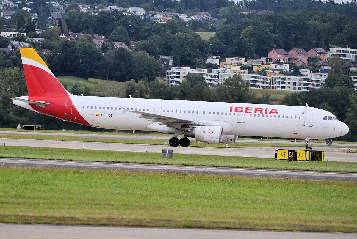
[[[0,168],[0,222],[357,232],[357,183]]]

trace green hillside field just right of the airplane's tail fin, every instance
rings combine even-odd
[[[124,91],[125,82],[107,81],[99,79],[85,80],[75,76],[60,76],[57,79],[62,85],[66,84],[67,89],[71,90],[74,85],[79,87],[89,87],[92,96],[121,96]],[[119,92],[119,93],[118,93]]]

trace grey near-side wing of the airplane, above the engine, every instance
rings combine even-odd
[[[163,116],[163,115],[153,114],[153,113],[144,112],[144,111],[127,110],[125,107],[121,107],[121,108],[123,110],[123,114],[125,114],[126,112],[136,113],[136,114],[138,114],[138,116],[137,116],[138,118],[144,118],[144,119],[148,119],[149,121],[152,121],[152,122],[159,122],[159,123],[166,124],[166,125],[168,125],[168,124],[170,124],[172,126],[174,126],[174,124],[176,124],[175,126],[177,126],[177,124],[190,124],[192,126],[213,125],[213,124],[207,123],[207,122],[199,122],[199,121],[186,120],[183,118]]]

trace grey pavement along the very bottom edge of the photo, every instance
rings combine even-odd
[[[316,232],[277,232],[219,229],[187,228],[140,228],[140,227],[96,227],[67,225],[29,225],[0,223],[0,238],[91,238],[91,239],[236,239],[236,238],[311,238],[311,239],[350,239],[357,238],[356,233],[316,233]]]

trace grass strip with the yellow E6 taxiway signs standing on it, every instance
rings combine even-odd
[[[96,161],[113,163],[146,163],[210,167],[267,168],[350,173],[357,172],[357,163],[354,162],[298,162],[281,161],[272,158],[253,158],[236,156],[233,157],[178,153],[174,154],[174,158],[168,159],[162,158],[161,153],[122,152],[91,149],[38,148],[20,146],[0,147],[0,157],[3,158],[60,159],[72,161]]]

